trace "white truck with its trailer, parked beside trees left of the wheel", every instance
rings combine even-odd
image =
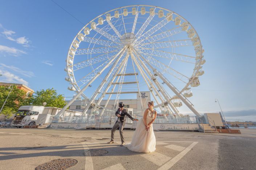
[[[14,116],[11,126],[24,127],[48,123],[60,110],[57,107],[21,106]],[[64,113],[65,116],[80,116],[81,114],[81,112],[71,110],[65,110]]]

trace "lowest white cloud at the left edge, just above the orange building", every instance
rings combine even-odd
[[[20,78],[19,76],[14,75],[13,73],[0,70],[0,74],[2,75],[0,77],[0,81],[10,82],[10,83],[19,83],[19,84],[24,84],[28,86],[28,82],[26,80],[24,80],[23,78]]]

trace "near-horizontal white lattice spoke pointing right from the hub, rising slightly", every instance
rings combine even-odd
[[[157,48],[172,48],[172,47],[184,47],[184,46],[193,46],[190,44],[190,39],[186,40],[176,40],[176,41],[163,41],[163,42],[153,42],[153,43],[144,43],[139,44],[139,47],[144,49],[157,49]]]

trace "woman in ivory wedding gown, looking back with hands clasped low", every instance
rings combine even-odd
[[[135,152],[150,153],[155,151],[156,140],[152,123],[157,117],[157,111],[153,110],[153,101],[147,103],[147,105],[148,109],[145,110],[143,118],[139,120],[131,143],[124,145]]]

